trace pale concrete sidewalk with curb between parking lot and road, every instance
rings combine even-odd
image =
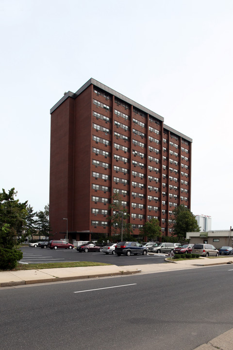
[[[98,278],[105,276],[129,275],[135,273],[156,273],[171,270],[192,269],[203,266],[233,263],[232,257],[217,259],[200,258],[197,260],[182,260],[173,263],[158,263],[130,266],[88,266],[67,267],[38,270],[2,271],[0,272],[0,287],[11,287],[24,284],[56,282]]]

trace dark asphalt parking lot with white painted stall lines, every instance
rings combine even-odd
[[[48,263],[48,262],[105,262],[117,266],[138,265],[164,262],[164,255],[106,255],[105,253],[80,253],[76,249],[41,249],[39,247],[33,248],[25,246],[21,248],[23,252],[23,263]]]

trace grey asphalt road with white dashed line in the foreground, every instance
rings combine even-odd
[[[229,265],[0,289],[0,349],[193,350],[233,328]]]

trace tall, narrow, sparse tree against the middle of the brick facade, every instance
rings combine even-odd
[[[127,219],[129,219],[129,213],[127,209],[122,206],[122,200],[119,193],[114,193],[111,197],[112,203],[109,205],[109,209],[113,210],[113,215],[108,217],[110,221],[110,232],[113,235],[119,235],[121,237],[121,227],[122,227],[122,213],[123,212],[123,234],[127,235],[127,237],[133,233],[131,224],[127,223]],[[121,211],[119,213],[119,211]]]

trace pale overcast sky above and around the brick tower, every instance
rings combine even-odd
[[[233,226],[232,0],[0,0],[0,188],[49,203],[50,108],[91,77],[193,139],[191,211]]]

